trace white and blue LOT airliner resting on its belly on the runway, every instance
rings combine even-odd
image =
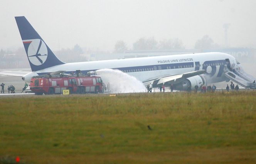
[[[25,17],[15,17],[32,72],[2,71],[0,74],[21,76],[30,82],[32,76],[65,70],[88,73],[104,68],[123,71],[153,88],[173,84],[177,90],[193,89],[232,80],[244,88],[255,88],[255,78],[243,71],[241,64],[226,53],[196,53],[144,58],[64,63],[59,60]],[[104,81],[104,79],[103,79]]]

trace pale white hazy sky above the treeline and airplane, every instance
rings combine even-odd
[[[209,35],[231,47],[256,48],[256,0],[1,0],[0,49],[22,47],[15,16],[25,16],[47,45],[113,50],[141,37],[179,38],[186,48]]]

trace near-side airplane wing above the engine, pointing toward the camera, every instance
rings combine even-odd
[[[145,86],[147,86],[148,84],[153,84],[153,87],[158,87],[160,85],[162,85],[163,83],[167,83],[170,81],[183,81],[186,78],[190,78],[193,76],[197,76],[197,75],[201,75],[206,73],[205,70],[199,70],[199,71],[192,71],[192,72],[188,72],[188,73],[184,73],[184,74],[179,74],[179,75],[171,75],[171,76],[162,76],[162,77],[157,77],[157,78],[153,78],[153,79],[148,79],[146,81],[143,81],[143,84]]]

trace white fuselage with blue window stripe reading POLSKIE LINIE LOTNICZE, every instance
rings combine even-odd
[[[231,65],[236,63],[236,59],[233,56],[216,52],[66,63],[35,71],[34,73],[42,75],[60,70],[64,70],[66,73],[81,70],[82,73],[86,74],[89,71],[111,68],[121,70],[140,81],[145,81],[156,76],[178,75],[197,70],[206,70],[208,76],[205,77],[211,79],[211,83],[217,83],[226,80],[225,76],[223,76],[226,59],[229,59]]]

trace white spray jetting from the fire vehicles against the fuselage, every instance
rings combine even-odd
[[[141,81],[120,70],[102,69],[97,70],[96,73],[101,77],[103,83],[109,86],[110,93],[134,93],[146,90]]]

